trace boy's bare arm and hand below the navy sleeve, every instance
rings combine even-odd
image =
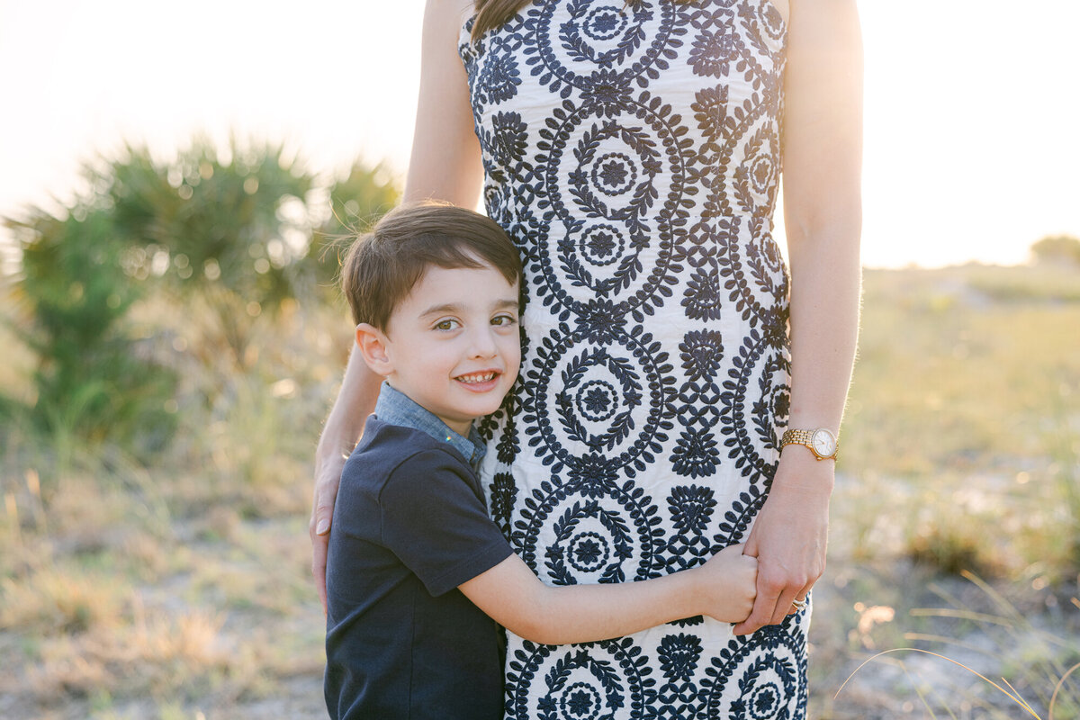
[[[635,583],[549,587],[516,555],[459,589],[491,619],[543,644],[590,642],[706,614],[721,622],[746,619],[754,604],[757,561],[742,545],[704,566]]]

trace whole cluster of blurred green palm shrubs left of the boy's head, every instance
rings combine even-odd
[[[232,370],[253,368],[256,328],[333,285],[337,258],[315,250],[329,234],[347,244],[339,218],[373,221],[400,199],[381,165],[356,161],[320,185],[283,146],[235,138],[217,148],[197,137],[168,160],[126,146],[83,176],[89,190],[60,216],[28,207],[3,219],[22,253],[8,320],[36,368],[27,407],[13,396],[0,407],[45,434],[145,459],[176,429],[184,366],[216,368],[203,385],[179,384],[213,405]],[[335,214],[320,212],[326,196]],[[156,304],[183,310],[153,317]]]

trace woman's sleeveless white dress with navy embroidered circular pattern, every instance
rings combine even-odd
[[[487,212],[527,303],[521,378],[482,425],[489,511],[552,585],[699,565],[746,539],[787,422],[783,19],[769,0],[537,0],[470,28]],[[804,718],[808,623],[511,636],[507,717]]]

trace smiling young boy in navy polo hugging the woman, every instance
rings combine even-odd
[[[757,562],[741,546],[657,580],[566,587],[511,552],[486,513],[472,423],[517,376],[521,274],[498,225],[435,203],[391,212],[346,258],[359,352],[386,382],[334,510],[332,718],[499,720],[498,624],[586,642],[700,614],[740,622],[753,606]]]

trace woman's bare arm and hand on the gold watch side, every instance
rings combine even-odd
[[[839,430],[859,332],[862,41],[855,0],[791,0],[784,82],[784,222],[792,273],[788,426]],[[835,462],[780,457],[746,540],[757,598],[735,626],[780,623],[825,569]]]

